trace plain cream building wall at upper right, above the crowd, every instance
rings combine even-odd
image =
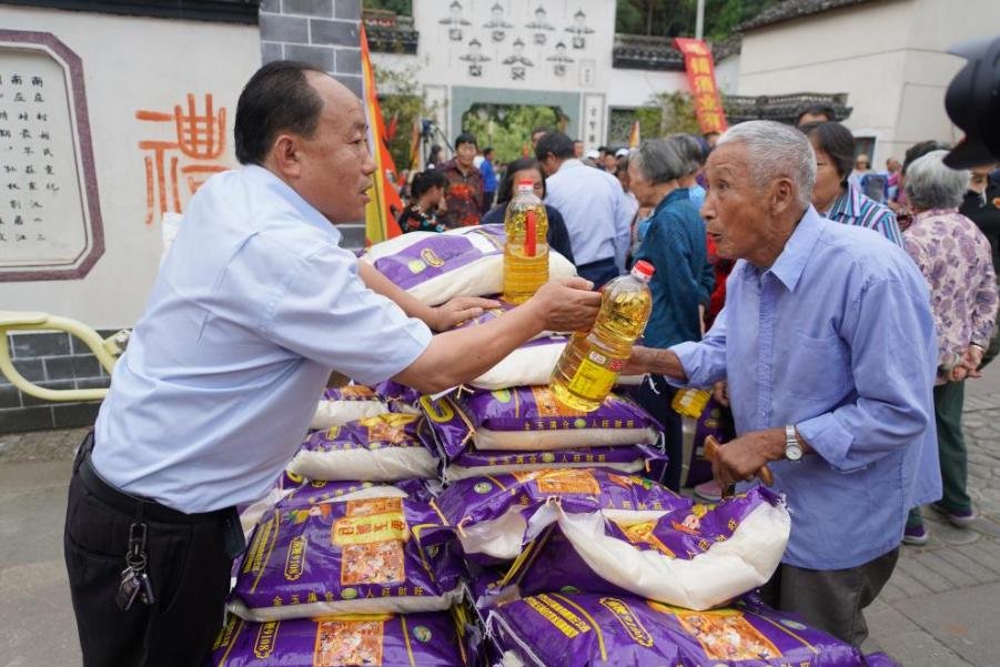
[[[945,50],[1000,28],[997,0],[890,0],[751,30],[739,94],[846,92],[845,124],[875,137],[873,165],[918,141],[956,141],[945,91],[963,60]]]

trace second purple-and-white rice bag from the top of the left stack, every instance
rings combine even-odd
[[[437,476],[433,447],[422,416],[383,413],[312,433],[287,469],[312,479],[428,479]]]

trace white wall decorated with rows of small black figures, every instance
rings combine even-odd
[[[420,33],[417,54],[373,53],[375,67],[413,72],[425,94],[438,102],[437,122],[448,138],[458,132],[453,125],[464,109],[457,107],[467,107],[473,99],[542,104],[546,103],[548,93],[553,94],[550,103],[573,119],[569,131],[590,137],[580,127],[588,124],[584,117],[589,119],[596,94],[604,95],[600,114],[606,118],[606,92],[616,72],[612,70],[615,3],[610,0],[458,1],[462,4],[458,20],[467,24],[451,22],[451,0],[413,0],[414,28]],[[503,8],[499,21],[508,24],[506,28],[488,27],[494,21],[493,7],[497,2]],[[537,23],[539,8],[545,10],[544,23],[552,30],[531,27]],[[576,26],[575,14],[580,10],[585,13],[584,24],[592,32],[577,34],[567,30]],[[453,30],[457,39],[452,39]],[[494,39],[494,33],[498,39]],[[536,34],[544,36],[544,43],[536,43]],[[574,38],[582,38],[582,43],[574,44]],[[521,54],[529,64],[504,62],[515,55],[514,42],[518,39],[524,43]],[[474,47],[474,40],[478,47]],[[557,48],[560,42],[562,50]],[[553,60],[556,58],[562,60]],[[515,68],[519,69],[517,78]],[[604,120],[598,124],[595,146],[604,141]]]

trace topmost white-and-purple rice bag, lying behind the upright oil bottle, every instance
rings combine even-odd
[[[455,296],[503,292],[505,242],[502,224],[411,232],[376,243],[361,259],[422,303],[440,305]],[[574,275],[566,257],[548,253],[549,280]]]

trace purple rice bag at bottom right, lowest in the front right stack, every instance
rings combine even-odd
[[[855,647],[761,605],[694,612],[550,593],[493,609],[504,667],[863,667]]]

